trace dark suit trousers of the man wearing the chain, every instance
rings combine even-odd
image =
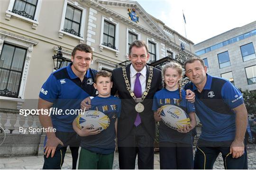
[[[143,125],[134,126],[123,140],[118,140],[119,169],[135,169],[138,154],[138,169],[154,169],[154,139]]]

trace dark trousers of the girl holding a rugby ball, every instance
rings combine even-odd
[[[159,146],[161,170],[193,169],[192,144],[162,142]]]

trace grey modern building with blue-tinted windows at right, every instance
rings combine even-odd
[[[256,90],[256,21],[194,45],[208,73],[231,81],[237,88]]]

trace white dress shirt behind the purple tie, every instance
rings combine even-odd
[[[146,90],[146,65],[145,67],[140,71],[141,75],[139,76],[139,81],[140,81],[140,85],[141,85],[141,91],[142,91],[142,94],[143,92]],[[133,91],[134,90],[134,83],[135,83],[135,80],[136,80],[136,74],[137,74],[137,71],[134,69],[134,67],[130,66],[130,81],[131,81],[131,90]]]

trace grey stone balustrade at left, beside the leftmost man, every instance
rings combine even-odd
[[[41,155],[45,134],[29,132],[30,128],[40,129],[42,126],[38,116],[19,115],[18,109],[0,108],[0,126],[6,133],[6,138],[0,146],[0,156]],[[20,131],[20,128],[27,130]]]

